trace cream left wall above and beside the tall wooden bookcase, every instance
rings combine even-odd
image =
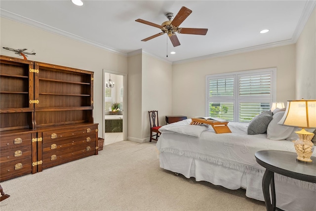
[[[2,47],[28,48],[35,50],[29,60],[78,68],[94,72],[94,122],[104,128],[103,69],[127,73],[127,57],[92,45],[73,41],[6,18],[0,18],[0,54],[22,58]],[[100,129],[100,131],[102,131]],[[99,132],[102,137],[102,132]]]

